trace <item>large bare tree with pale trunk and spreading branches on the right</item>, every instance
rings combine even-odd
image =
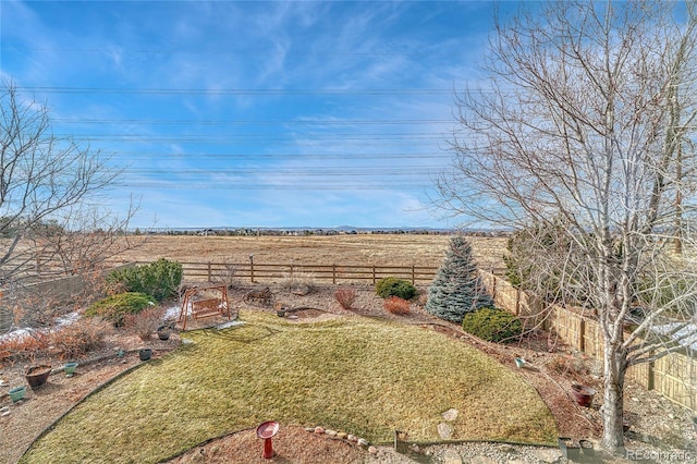
[[[623,445],[627,367],[694,333],[696,41],[694,1],[536,3],[497,20],[488,80],[457,96],[453,169],[438,181],[449,211],[558,234],[554,253],[529,246],[533,273],[576,303],[584,289],[597,312],[609,450]]]

